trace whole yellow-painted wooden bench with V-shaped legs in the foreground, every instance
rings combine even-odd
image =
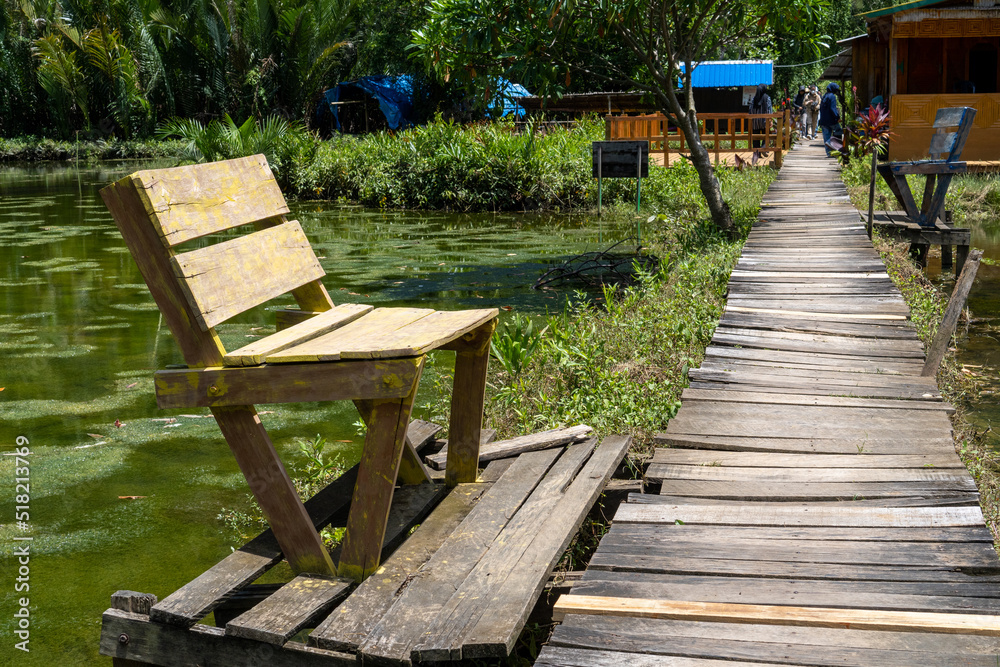
[[[447,485],[475,482],[496,309],[335,305],[262,155],[139,171],[101,196],[187,362],[156,373],[158,405],[211,409],[294,570],[361,581],[378,568],[397,480],[429,481],[406,432],[430,350],[457,353]],[[281,314],[285,328],[222,346],[218,324],[288,292],[300,310]],[[254,408],[335,400],[368,425],[337,567]]]

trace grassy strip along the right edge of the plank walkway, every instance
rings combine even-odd
[[[861,210],[868,207],[868,165],[855,161],[844,170],[844,182],[851,199]],[[915,184],[911,184],[912,185]],[[1000,179],[993,175],[957,177],[948,191],[946,206],[953,211],[956,224],[975,224],[993,220],[990,209],[1000,205]],[[876,210],[898,208],[891,192],[879,179],[876,190]],[[995,208],[994,208],[995,210]],[[876,233],[875,249],[885,261],[893,282],[910,307],[910,317],[924,346],[929,346],[937,333],[949,294],[935,286],[909,257],[909,244],[890,240]],[[962,323],[959,325],[962,326]],[[959,330],[961,335],[961,329]],[[1000,548],[1000,455],[967,419],[972,400],[981,391],[976,375],[958,362],[955,349],[946,354],[937,374],[942,395],[956,408],[952,416],[955,448],[979,488],[980,505],[986,525]]]

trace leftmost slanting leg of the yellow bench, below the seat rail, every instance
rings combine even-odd
[[[296,572],[333,574],[333,561],[252,405],[212,408],[281,552]]]

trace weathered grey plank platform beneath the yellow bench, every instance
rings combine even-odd
[[[423,437],[419,429],[426,432],[423,424],[411,427],[415,438]],[[238,593],[234,582],[246,590],[280,559],[266,531],[162,602],[119,591],[104,613],[101,653],[122,665],[266,659],[272,667],[503,658],[631,444],[611,436],[598,445],[579,435],[568,446],[494,460],[479,480],[456,485],[443,499],[440,485],[402,487],[385,548],[402,544],[356,588],[350,580],[300,574],[259,586],[238,611],[221,613]],[[338,491],[357,472],[306,503],[317,525],[342,511]],[[218,627],[196,623],[213,609]],[[304,630],[311,632],[297,638]]]

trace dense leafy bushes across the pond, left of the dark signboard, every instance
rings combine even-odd
[[[507,121],[462,126],[438,118],[396,134],[300,145],[287,178],[302,196],[381,208],[571,209],[596,204],[590,143],[602,136],[598,122],[532,136]],[[616,186],[605,201],[626,191]]]

